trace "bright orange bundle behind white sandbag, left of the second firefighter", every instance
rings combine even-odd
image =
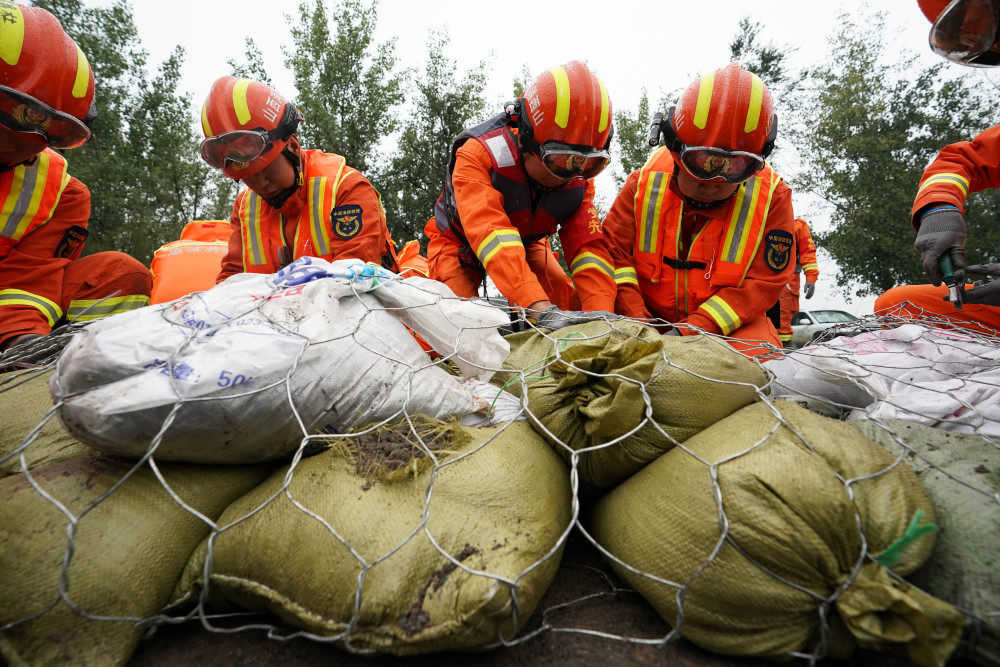
[[[173,301],[214,287],[232,231],[228,220],[195,220],[184,225],[177,241],[157,248],[149,265],[153,273],[149,302]]]

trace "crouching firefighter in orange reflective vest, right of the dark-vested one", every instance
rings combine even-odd
[[[748,355],[781,346],[766,312],[792,277],[795,241],[792,191],[765,160],[777,131],[771,93],[735,63],[656,115],[650,143],[666,145],[604,219],[615,312],[728,336]]]

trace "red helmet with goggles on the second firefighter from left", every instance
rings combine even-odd
[[[201,108],[201,157],[230,178],[248,178],[285,150],[302,120],[267,84],[223,76]]]

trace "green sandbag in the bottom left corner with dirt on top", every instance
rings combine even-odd
[[[136,619],[168,601],[209,533],[174,495],[214,520],[269,470],[161,465],[168,492],[152,469],[133,466],[97,456],[37,469],[34,485],[25,474],[0,480],[0,627],[12,624],[0,655],[11,665],[125,664],[145,631]],[[56,502],[76,517],[71,538]],[[78,612],[59,594],[67,554],[65,592]]]

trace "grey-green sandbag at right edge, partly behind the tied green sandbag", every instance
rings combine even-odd
[[[963,655],[1000,666],[1000,447],[976,435],[898,419],[848,423],[920,475],[941,533],[909,580],[968,613]],[[901,439],[905,446],[901,446]]]

